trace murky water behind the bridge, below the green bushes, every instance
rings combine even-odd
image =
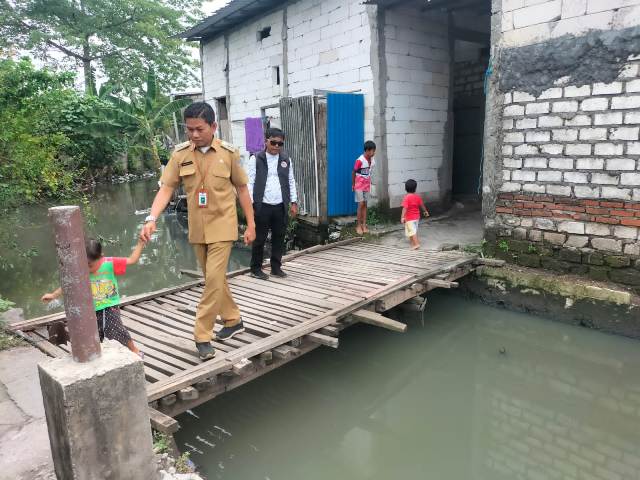
[[[157,190],[154,179],[128,184],[99,187],[91,195],[94,224],[87,231],[106,241],[108,256],[128,256],[137,241],[140,225],[148,214]],[[44,315],[48,310],[41,302],[43,293],[58,284],[57,260],[53,233],[47,219],[47,207],[28,206],[10,218],[0,220],[0,230],[14,232],[22,251],[34,249],[35,257],[24,258],[18,251],[3,251],[4,265],[0,270],[0,296],[23,308],[27,318]],[[247,265],[250,251],[233,252],[229,268]],[[129,267],[119,279],[125,295],[157,290],[192,280],[180,275],[180,269],[195,269],[197,261],[187,239],[187,221],[182,215],[165,214],[158,223],[153,241],[147,245],[138,265]]]

